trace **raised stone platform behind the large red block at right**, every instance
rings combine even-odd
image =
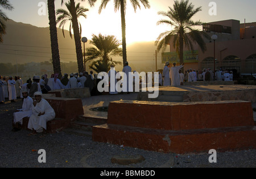
[[[139,92],[137,100],[167,102],[243,100],[256,103],[256,86],[236,84],[159,87],[157,98],[149,99],[148,92]]]

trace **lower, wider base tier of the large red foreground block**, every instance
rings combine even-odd
[[[226,127],[185,131],[156,130],[121,125],[93,126],[92,139],[143,150],[188,154],[256,148],[256,127]]]

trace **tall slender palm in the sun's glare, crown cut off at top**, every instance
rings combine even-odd
[[[110,2],[110,0],[102,0],[101,6],[99,8],[99,14],[102,11],[102,8],[106,8],[106,5]],[[144,8],[150,8],[150,4],[148,0],[130,0],[131,5],[133,5],[134,11],[136,12],[137,7],[141,9],[141,5],[139,2],[142,3]],[[117,12],[121,9],[121,23],[122,23],[122,48],[123,48],[123,64],[127,61],[127,54],[126,54],[126,23],[125,23],[125,10],[126,10],[126,0],[114,0],[114,10]]]

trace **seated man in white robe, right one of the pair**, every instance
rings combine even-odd
[[[42,99],[41,92],[35,92],[35,101],[32,105],[32,115],[28,121],[28,129],[32,130],[29,135],[35,135],[36,133],[46,132],[46,123],[55,118],[55,112],[47,100]],[[41,137],[43,137],[41,135]]]

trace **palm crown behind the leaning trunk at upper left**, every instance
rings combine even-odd
[[[70,2],[66,2],[65,3],[65,6],[68,8],[68,11],[64,10],[63,8],[59,8],[57,11],[56,11],[56,14],[59,15],[57,17],[57,20],[56,20],[56,23],[60,23],[59,24],[59,28],[62,27],[62,32],[63,32],[63,36],[65,37],[65,34],[64,34],[64,26],[67,22],[70,22],[69,24],[69,36],[71,37],[72,39],[72,29],[73,29],[73,25],[72,25],[72,15],[71,15],[71,5],[70,5]],[[87,18],[87,16],[84,14],[85,12],[89,11],[88,8],[84,8],[82,6],[80,6],[80,3],[77,3],[76,5],[76,16],[77,18],[79,18],[80,16],[84,17],[85,19]],[[81,23],[79,23],[79,29],[80,29],[80,36],[81,36],[81,33],[82,33],[82,26],[81,26]]]

